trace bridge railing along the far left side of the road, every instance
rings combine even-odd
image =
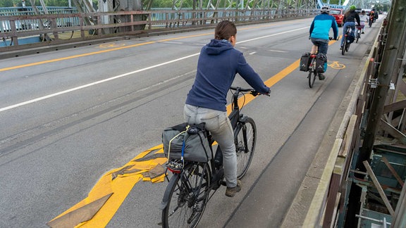
[[[259,23],[283,18],[305,18],[319,13],[316,9],[276,8],[250,10],[160,10],[97,13],[49,13],[34,15],[18,12],[0,15],[0,39],[7,46],[17,46],[20,38],[38,36],[48,42],[63,39],[61,34],[76,32],[75,39],[92,39],[120,35],[135,35],[174,29],[196,29],[211,26],[221,20],[235,23]],[[73,39],[70,37],[69,39]]]

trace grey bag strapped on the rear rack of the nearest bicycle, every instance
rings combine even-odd
[[[167,127],[162,133],[162,144],[168,159],[206,163],[212,157],[204,122],[198,125],[188,125],[184,122]]]

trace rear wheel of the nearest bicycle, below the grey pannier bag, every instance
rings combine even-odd
[[[162,199],[162,227],[196,227],[209,200],[210,170],[205,163],[187,165],[171,177]]]

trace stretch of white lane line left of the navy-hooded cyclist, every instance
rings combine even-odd
[[[41,97],[39,97],[39,98],[37,98],[37,99],[32,99],[32,100],[30,100],[30,101],[25,101],[25,102],[22,102],[22,103],[17,103],[17,104],[15,104],[15,105],[13,105],[13,106],[7,106],[7,107],[4,107],[4,108],[0,108],[0,112],[3,112],[3,111],[5,111],[5,110],[9,110],[9,109],[11,109],[11,108],[17,108],[17,107],[20,107],[20,106],[25,106],[25,105],[27,105],[27,104],[29,104],[29,103],[34,103],[34,102],[37,102],[37,101],[42,101],[42,100],[44,100],[44,99],[49,99],[49,98],[51,98],[51,97],[59,96],[59,95],[61,95],[61,94],[67,94],[67,93],[69,93],[69,92],[71,92],[71,91],[76,91],[76,90],[78,90],[78,89],[84,89],[84,88],[86,88],[86,87],[91,87],[91,86],[94,86],[95,84],[101,84],[101,83],[104,83],[104,82],[109,82],[109,81],[111,81],[111,80],[116,80],[116,79],[118,79],[118,78],[120,78],[120,77],[126,77],[126,76],[128,76],[128,75],[133,75],[133,74],[135,74],[135,73],[137,73],[137,72],[142,72],[142,71],[149,70],[149,69],[152,69],[152,68],[157,68],[157,67],[159,67],[159,66],[161,66],[161,65],[167,65],[167,64],[169,64],[169,63],[174,63],[174,62],[177,62],[177,61],[181,61],[181,60],[183,60],[183,59],[185,59],[185,58],[190,58],[190,57],[193,57],[193,56],[198,56],[199,54],[200,54],[200,53],[194,53],[194,54],[192,54],[192,55],[190,55],[190,56],[185,56],[185,57],[182,57],[182,58],[174,59],[173,61],[168,61],[168,62],[165,62],[165,63],[160,63],[160,64],[157,64],[157,65],[152,65],[152,66],[147,67],[147,68],[142,68],[142,69],[140,69],[140,70],[135,70],[135,71],[132,71],[132,72],[127,72],[127,73],[122,74],[122,75],[117,75],[117,76],[114,76],[114,77],[109,77],[109,78],[106,78],[105,80],[100,80],[100,81],[97,81],[97,82],[92,82],[92,83],[89,83],[89,84],[84,84],[84,85],[82,85],[82,86],[80,86],[80,87],[75,87],[75,88],[72,88],[72,89],[67,89],[67,90],[60,91],[60,92],[55,93],[55,94],[49,94],[49,95],[47,95],[47,96],[41,96]]]

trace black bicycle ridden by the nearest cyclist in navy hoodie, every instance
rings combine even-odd
[[[233,110],[228,115],[234,129],[235,151],[237,153],[237,178],[242,178],[250,167],[257,140],[257,127],[252,118],[240,113],[238,106],[240,94],[244,97],[250,93],[259,95],[254,89],[230,87],[233,92]],[[269,94],[266,94],[269,96]],[[211,153],[214,140],[207,131]],[[168,186],[161,203],[162,227],[196,227],[199,223],[207,202],[221,185],[225,186],[222,153],[217,146],[215,156],[207,163],[188,160],[171,160],[166,165]],[[172,177],[168,178],[168,171]],[[211,194],[211,191],[214,191]],[[211,195],[210,195],[211,194]]]

